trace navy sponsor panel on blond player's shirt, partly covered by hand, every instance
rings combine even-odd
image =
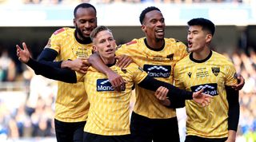
[[[97,80],[97,91],[114,91],[114,88],[110,84],[110,81],[108,79],[98,79]],[[126,88],[122,89],[124,91]]]

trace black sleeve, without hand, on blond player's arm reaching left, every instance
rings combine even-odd
[[[31,58],[26,63],[26,65],[29,65],[31,69],[34,69],[34,73],[38,75],[42,75],[43,77],[47,77],[57,81],[64,81],[67,83],[77,82],[77,77],[74,70],[67,69],[67,68],[65,69],[54,68],[42,62],[34,61]]]

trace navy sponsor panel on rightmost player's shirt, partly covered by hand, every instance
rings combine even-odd
[[[193,92],[197,92],[203,89],[203,93],[209,94],[211,96],[217,96],[218,95],[217,86],[218,86],[217,83],[195,85],[195,86],[191,86],[191,90]]]

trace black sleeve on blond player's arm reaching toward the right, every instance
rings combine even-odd
[[[170,100],[175,100],[179,98],[182,98],[183,100],[192,100],[193,99],[193,93],[178,89],[178,87],[175,87],[174,85],[170,85],[163,81],[158,81],[154,79],[153,77],[147,76],[141,83],[138,84],[140,87],[144,89],[149,89],[151,91],[156,91],[160,86],[166,87],[169,89],[168,97]]]

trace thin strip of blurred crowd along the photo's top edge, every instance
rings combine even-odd
[[[94,4],[110,4],[110,3],[192,3],[192,2],[237,2],[237,3],[250,3],[253,0],[0,0],[1,3],[20,3],[20,4],[43,4],[43,5],[70,5],[78,4],[81,2],[90,2]]]

